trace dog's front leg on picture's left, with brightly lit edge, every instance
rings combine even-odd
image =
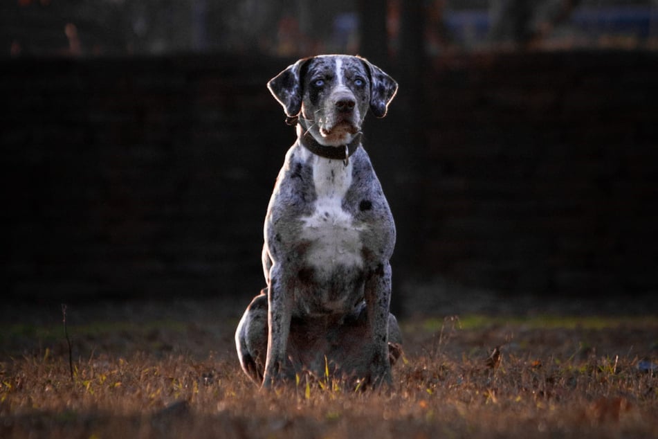
[[[291,296],[284,285],[284,280],[277,276],[275,267],[271,269],[271,281],[268,288],[268,335],[267,356],[263,387],[269,388],[280,381],[282,368],[286,361],[288,336],[291,321]]]

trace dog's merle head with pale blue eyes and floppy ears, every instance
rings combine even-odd
[[[267,87],[318,143],[338,146],[360,132],[368,108],[386,115],[398,84],[362,57],[320,55],[295,62]]]

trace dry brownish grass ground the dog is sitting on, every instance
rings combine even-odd
[[[638,367],[658,358],[656,316],[413,319],[386,391],[262,393],[211,305],[69,318],[73,379],[61,315],[6,323],[0,437],[658,437],[657,373]]]

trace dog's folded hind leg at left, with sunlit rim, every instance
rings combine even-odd
[[[267,354],[267,289],[253,298],[235,331],[235,347],[242,370],[262,384]]]

